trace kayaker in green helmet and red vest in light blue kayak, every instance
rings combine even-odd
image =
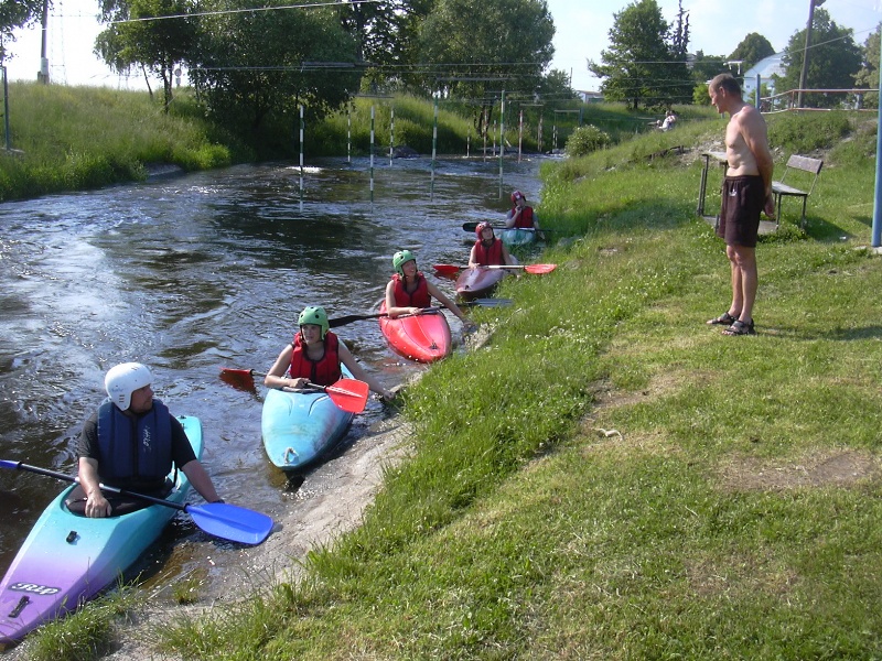
[[[299,329],[293,342],[282,349],[263,378],[267,388],[305,388],[306,383],[332,386],[342,378],[340,365],[343,364],[353,377],[366,382],[383,399],[395,399],[395,393],[368,375],[331,332],[324,307],[305,307],[297,324]]]

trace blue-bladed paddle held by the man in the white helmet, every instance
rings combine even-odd
[[[21,462],[11,462],[9,459],[0,459],[0,467],[13,468],[19,470],[28,470],[29,473],[36,473],[37,475],[47,475],[71,483],[79,483],[79,478],[66,473],[58,473],[50,470],[49,468],[40,468],[37,466],[30,466]],[[120,496],[128,496],[130,498],[138,498],[147,500],[154,505],[163,505],[172,509],[181,510],[190,514],[201,530],[232,542],[239,542],[243,544],[259,544],[269,537],[272,530],[272,519],[267,514],[256,512],[254,510],[238,507],[235,505],[227,505],[226,502],[207,502],[205,505],[181,505],[180,502],[172,502],[162,498],[153,498],[146,494],[137,494],[127,489],[119,489],[117,487],[108,487],[100,485],[101,489],[112,491]]]

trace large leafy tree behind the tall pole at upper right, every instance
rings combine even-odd
[[[782,57],[785,73],[775,85],[777,90],[799,88],[805,44],[805,30],[796,32],[790,37]],[[811,50],[808,56],[806,88],[851,89],[854,75],[861,68],[861,51],[854,43],[852,30],[840,28],[830,20],[830,14],[826,10],[816,9],[811,22]],[[828,108],[839,100],[841,99],[838,97],[809,94],[805,96],[804,102]]]

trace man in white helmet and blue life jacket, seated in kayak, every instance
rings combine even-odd
[[[108,400],[83,425],[77,443],[79,486],[67,507],[87,517],[109,517],[149,505],[104,494],[99,483],[164,498],[172,464],[208,502],[223,502],[193,452],[183,425],[153,399],[153,375],[146,365],[123,362],[105,377]]]

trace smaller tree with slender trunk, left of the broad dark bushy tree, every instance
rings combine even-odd
[[[187,0],[104,0],[110,22],[95,40],[95,53],[117,72],[140,66],[162,79],[165,112],[172,102],[173,72],[196,43],[196,22]],[[162,19],[160,17],[174,17]],[[150,80],[147,80],[148,88]]]

